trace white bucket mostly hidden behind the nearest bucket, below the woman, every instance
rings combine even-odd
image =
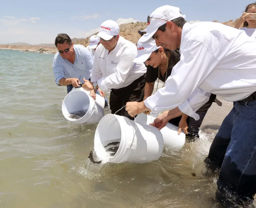
[[[156,117],[153,117],[150,114],[146,115],[141,113],[136,117],[136,121],[138,123],[150,124],[154,122],[155,118]],[[186,134],[181,132],[179,135],[178,129],[178,127],[168,122],[167,125],[160,130],[163,136],[163,143],[176,150],[179,150],[184,146],[186,139]]]

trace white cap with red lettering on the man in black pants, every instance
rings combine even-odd
[[[106,20],[101,24],[100,31],[97,36],[108,41],[113,38],[114,35],[118,35],[119,31],[119,26],[115,21]]]

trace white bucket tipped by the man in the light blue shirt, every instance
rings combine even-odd
[[[103,100],[103,101],[102,101]],[[98,123],[104,116],[104,104],[105,100],[102,96],[96,94],[94,100],[89,91],[81,88],[73,88],[69,92],[62,102],[62,114],[63,116],[73,123]],[[86,114],[80,119],[70,118],[70,113],[85,109]]]

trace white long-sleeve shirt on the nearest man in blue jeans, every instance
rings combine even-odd
[[[210,93],[239,101],[256,91],[256,42],[242,30],[221,23],[186,23],[181,59],[165,88],[145,100],[154,112],[179,109],[195,118]]]

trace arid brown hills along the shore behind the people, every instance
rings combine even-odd
[[[228,25],[230,27],[234,27],[236,25],[238,19],[236,20],[229,20],[223,22],[222,24]],[[218,22],[214,20],[214,22]],[[139,30],[143,30],[146,28],[147,23],[137,22],[137,23],[128,23],[120,25],[120,35],[123,36],[125,39],[136,43],[140,38],[138,33]],[[242,27],[242,26],[241,26]],[[97,33],[95,33],[97,34]],[[93,35],[93,34],[91,34]],[[73,38],[72,39],[74,44],[81,44],[84,46],[89,45],[89,36],[87,38]],[[0,45],[0,48],[6,49],[17,49],[17,50],[29,50],[29,51],[37,51],[41,53],[57,53],[57,49],[54,44],[39,44],[39,45],[30,45],[28,43],[12,43],[12,44],[5,44]]]

